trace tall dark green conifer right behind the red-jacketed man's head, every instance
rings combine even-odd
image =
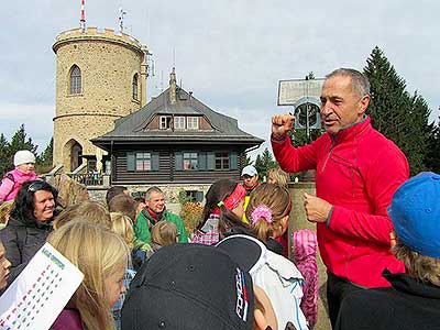
[[[411,174],[426,168],[430,110],[417,92],[406,91],[406,81],[376,46],[366,59],[364,74],[371,84],[367,113],[373,127],[394,141],[408,158]]]

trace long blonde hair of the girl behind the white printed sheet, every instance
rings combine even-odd
[[[114,329],[105,279],[128,264],[130,251],[122,238],[101,224],[76,220],[54,231],[47,241],[84,273],[69,301],[78,309],[84,329]]]

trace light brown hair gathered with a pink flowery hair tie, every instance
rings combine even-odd
[[[272,223],[264,217],[254,219],[252,212],[261,206],[271,211]],[[252,193],[246,208],[246,218],[258,240],[266,242],[274,232],[283,231],[282,220],[290,213],[292,201],[288,190],[279,185],[261,184]]]

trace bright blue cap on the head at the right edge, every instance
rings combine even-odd
[[[388,215],[402,243],[440,257],[440,175],[422,172],[405,182],[394,194]]]

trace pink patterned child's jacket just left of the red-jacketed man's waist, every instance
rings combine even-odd
[[[300,308],[312,329],[318,320],[318,265],[316,262],[318,241],[315,231],[301,229],[295,231],[292,240],[292,252],[298,271],[304,277]]]

